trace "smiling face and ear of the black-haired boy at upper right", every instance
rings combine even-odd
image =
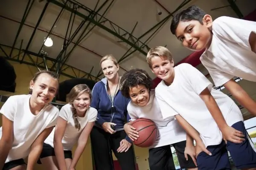
[[[209,48],[212,40],[212,17],[205,15],[203,24],[198,20],[180,21],[176,29],[176,37],[184,47],[193,51]]]

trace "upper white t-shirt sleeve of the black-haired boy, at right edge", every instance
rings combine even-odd
[[[256,22],[222,16],[213,21],[212,30],[221,38],[251,50],[249,36],[251,32],[256,32]]]

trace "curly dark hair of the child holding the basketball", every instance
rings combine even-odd
[[[130,88],[137,85],[145,85],[147,89],[150,89],[152,85],[152,79],[148,73],[139,68],[125,72],[120,80],[120,91],[123,96],[130,98]]]

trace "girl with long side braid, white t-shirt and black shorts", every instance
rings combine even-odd
[[[69,103],[61,108],[56,127],[44,141],[40,158],[47,170],[75,170],[97,117],[97,110],[90,107],[92,95],[87,85],[76,85],[67,97]]]

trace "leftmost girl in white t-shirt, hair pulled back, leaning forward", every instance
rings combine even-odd
[[[0,170],[32,170],[56,123],[58,108],[49,104],[58,90],[55,73],[36,73],[29,89],[10,96],[0,110]]]

